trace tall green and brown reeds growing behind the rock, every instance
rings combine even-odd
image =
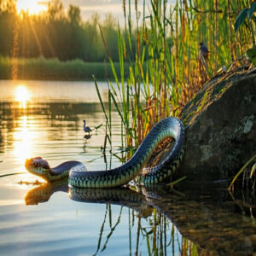
[[[144,0],[140,20],[137,1],[135,15],[131,0],[123,1],[119,76],[109,54],[108,59],[118,85],[114,90],[110,83],[111,99],[121,116],[127,146],[137,147],[160,119],[177,116],[206,82],[208,73],[212,76],[232,61],[240,64],[237,59],[250,46],[252,36],[249,26],[241,26],[236,34],[233,24],[247,4],[241,0],[177,0],[171,5],[166,0],[151,0],[146,5]],[[131,22],[133,16],[135,22]],[[102,39],[108,52],[103,35]],[[201,63],[201,41],[210,50],[207,68]]]

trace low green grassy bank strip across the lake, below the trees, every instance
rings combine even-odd
[[[113,66],[119,75],[119,62],[113,62]],[[0,56],[0,79],[90,81],[93,80],[93,75],[97,80],[114,79],[108,61],[59,61],[56,58],[24,59]]]

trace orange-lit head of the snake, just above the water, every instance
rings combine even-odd
[[[43,177],[47,180],[50,167],[47,160],[42,159],[42,157],[27,159],[25,162],[25,167],[28,172],[38,175],[39,177]]]

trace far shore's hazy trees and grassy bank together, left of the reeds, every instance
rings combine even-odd
[[[71,4],[65,12],[59,0],[39,15],[18,15],[15,2],[0,2],[0,79],[113,79],[99,31],[101,25],[109,54],[119,61],[113,15],[83,21],[79,7]]]

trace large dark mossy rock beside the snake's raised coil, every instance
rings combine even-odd
[[[186,151],[176,177],[212,183],[234,177],[256,154],[256,72],[217,76],[183,108]]]

